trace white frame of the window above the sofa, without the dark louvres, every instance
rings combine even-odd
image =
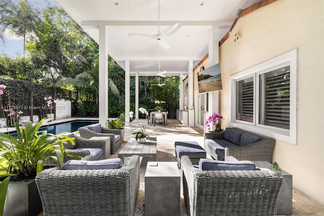
[[[290,129],[260,125],[259,119],[259,75],[282,65],[290,65]],[[236,120],[236,81],[254,77],[254,118],[252,122]],[[272,58],[261,64],[230,76],[230,122],[232,127],[246,129],[275,139],[297,144],[297,49]]]

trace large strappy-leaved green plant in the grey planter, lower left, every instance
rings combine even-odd
[[[33,178],[39,160],[52,159],[56,166],[63,166],[63,154],[68,154],[63,144],[70,141],[74,145],[74,137],[54,135],[46,130],[38,134],[38,129],[48,125],[49,121],[50,119],[44,118],[35,125],[25,122],[25,126],[21,128],[16,122],[18,138],[9,133],[0,133],[0,156],[7,160],[8,173],[17,174],[24,179]],[[55,156],[51,153],[55,153]]]

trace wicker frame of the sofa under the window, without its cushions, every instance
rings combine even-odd
[[[249,133],[260,137],[260,141],[257,141],[248,146],[228,146],[225,147],[225,155],[217,155],[215,150],[206,146],[206,139],[224,139],[224,131],[218,133],[205,133],[204,134],[204,149],[207,154],[212,156],[216,160],[224,160],[227,156],[233,156],[237,160],[250,160],[250,161],[268,161],[272,163],[272,156],[274,151],[275,139],[263,136],[250,131],[235,128],[236,130],[244,133]]]

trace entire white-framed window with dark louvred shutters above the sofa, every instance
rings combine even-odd
[[[297,50],[232,75],[231,125],[296,143]]]

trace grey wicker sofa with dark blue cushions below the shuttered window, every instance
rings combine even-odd
[[[204,149],[216,160],[233,156],[237,160],[272,163],[275,139],[239,128],[204,134]]]

